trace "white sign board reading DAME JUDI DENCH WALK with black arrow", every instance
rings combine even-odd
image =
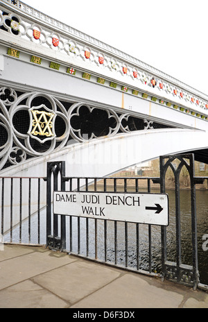
[[[168,195],[53,192],[53,213],[168,226]]]

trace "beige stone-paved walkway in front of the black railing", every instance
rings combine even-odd
[[[1,308],[208,308],[208,293],[44,247],[0,248]]]

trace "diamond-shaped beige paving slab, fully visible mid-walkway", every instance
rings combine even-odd
[[[94,262],[77,261],[32,278],[70,304],[119,278],[120,273]]]

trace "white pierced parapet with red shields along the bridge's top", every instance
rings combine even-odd
[[[204,109],[207,105],[208,96],[204,93],[100,40],[96,40],[94,37],[35,10],[21,1],[3,0],[1,8],[0,26],[6,28],[11,37],[28,40],[35,44],[35,47],[28,46],[28,48],[33,48],[37,54],[53,58],[53,52],[55,52],[58,54],[58,60],[68,61],[74,67],[129,84],[156,96],[168,96],[171,101],[189,108],[200,107]],[[9,12],[8,15],[2,14],[2,10],[5,9]],[[12,17],[16,17],[18,23],[13,22]],[[6,24],[6,20],[10,21],[10,26]],[[33,30],[40,32],[39,39],[35,39]],[[14,31],[18,35],[15,36]],[[58,40],[58,46],[53,45],[53,38]],[[18,42],[18,46],[26,49],[26,42]],[[51,54],[47,49],[51,50]],[[89,58],[85,56],[86,51],[90,53]],[[103,58],[102,63],[99,62],[99,57]],[[126,68],[125,73],[123,67]],[[134,73],[137,73],[137,76]],[[153,78],[157,85],[153,85]],[[193,101],[191,101],[192,98]],[[207,108],[205,109],[207,110]]]

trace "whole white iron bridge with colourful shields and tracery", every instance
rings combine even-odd
[[[0,3],[0,175],[108,176],[159,155],[208,162],[208,96],[18,0]]]

